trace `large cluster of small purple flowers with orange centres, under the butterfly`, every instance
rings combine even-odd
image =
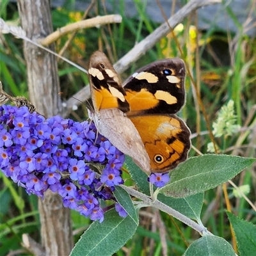
[[[101,222],[100,200],[115,200],[124,159],[93,123],[0,106],[0,168],[29,194],[43,197],[51,189],[65,207]],[[115,208],[125,216],[120,205]]]

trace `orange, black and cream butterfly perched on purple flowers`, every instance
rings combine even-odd
[[[107,56],[96,51],[88,74],[94,108],[90,116],[100,134],[148,174],[167,172],[186,160],[191,132],[175,115],[186,97],[182,60],[150,63],[123,87]]]

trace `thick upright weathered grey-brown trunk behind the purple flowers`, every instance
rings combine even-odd
[[[36,42],[52,33],[51,8],[47,0],[18,0],[20,20],[26,35]],[[51,45],[54,51],[54,45]],[[60,81],[56,57],[29,42],[24,42],[31,102],[44,116],[61,114]],[[73,248],[70,211],[60,196],[47,191],[39,200],[42,246],[45,255],[69,255]]]

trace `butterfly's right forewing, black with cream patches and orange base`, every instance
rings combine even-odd
[[[124,82],[128,115],[174,114],[185,101],[185,65],[179,58],[155,61]]]

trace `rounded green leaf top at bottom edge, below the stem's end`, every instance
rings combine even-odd
[[[220,256],[236,255],[232,246],[218,236],[204,236],[192,243],[186,250],[185,256]]]

